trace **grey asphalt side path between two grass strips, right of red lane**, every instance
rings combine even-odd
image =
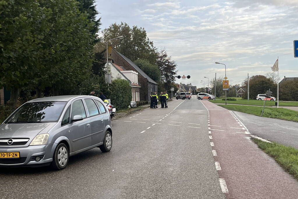
[[[298,122],[232,111],[252,135],[298,149]]]

